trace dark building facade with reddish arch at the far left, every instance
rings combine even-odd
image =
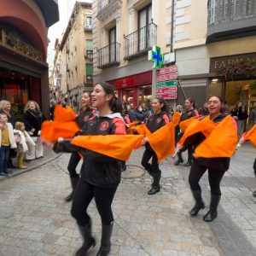
[[[38,102],[47,114],[47,32],[59,20],[58,1],[1,0],[0,4],[1,99],[11,102],[18,116],[28,100]]]

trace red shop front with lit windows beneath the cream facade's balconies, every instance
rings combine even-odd
[[[137,73],[128,77],[107,81],[112,84],[118,98],[125,103],[133,102],[134,106],[145,102],[151,108],[152,71]]]

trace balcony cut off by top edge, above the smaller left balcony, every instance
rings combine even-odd
[[[104,20],[108,15],[116,13],[122,5],[122,0],[97,0],[97,15],[99,20]]]

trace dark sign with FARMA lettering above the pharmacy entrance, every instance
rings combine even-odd
[[[218,73],[225,67],[231,67],[238,62],[256,61],[256,53],[245,55],[229,55],[210,59],[210,73]]]

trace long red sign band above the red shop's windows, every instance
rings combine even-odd
[[[112,84],[115,90],[152,84],[152,72],[137,73],[125,78],[109,80],[108,84]]]

